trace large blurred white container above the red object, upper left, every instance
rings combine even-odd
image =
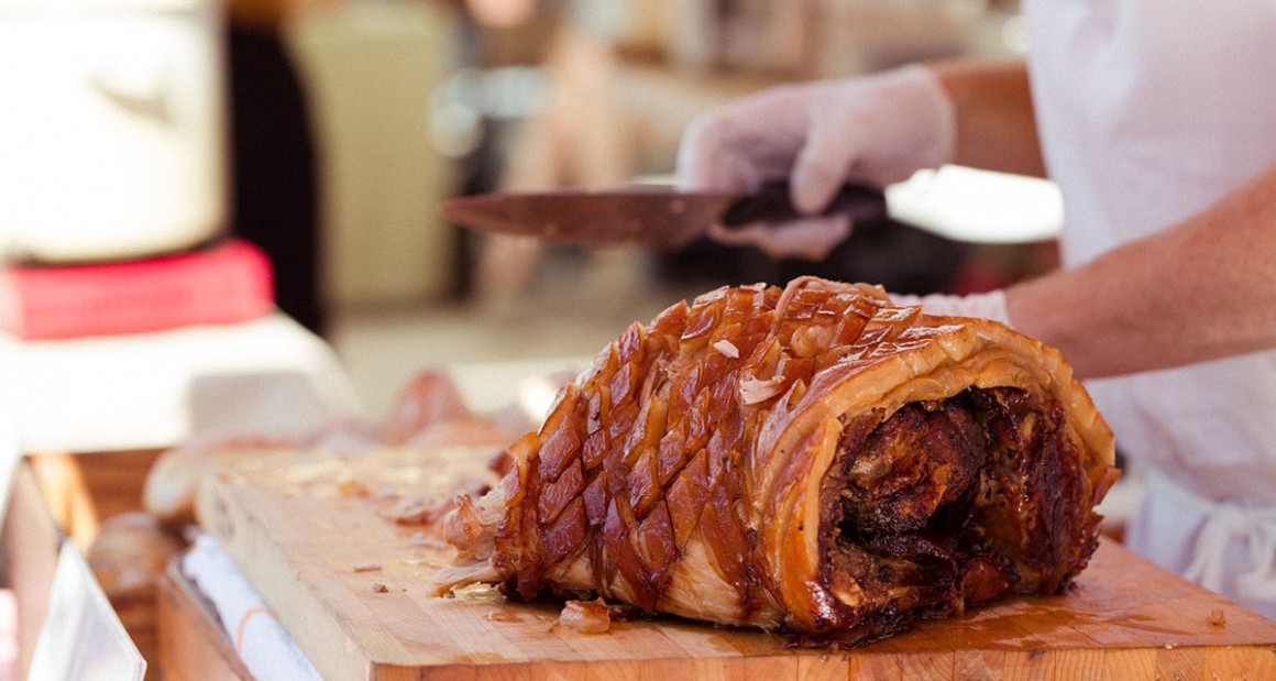
[[[82,261],[228,222],[218,0],[0,0],[0,246]]]

